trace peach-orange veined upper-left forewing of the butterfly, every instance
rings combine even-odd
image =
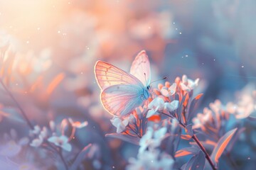
[[[109,64],[107,62],[96,62],[95,77],[97,80],[97,84],[102,90],[118,84],[129,84],[143,87],[142,82],[139,81],[139,79],[134,77],[132,74],[129,74],[117,67],[114,67],[112,64]]]

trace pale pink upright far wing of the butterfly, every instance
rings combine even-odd
[[[149,86],[151,81],[151,72],[149,57],[146,55],[145,50],[139,52],[137,57],[135,57],[134,62],[132,62],[130,73],[142,81],[144,86]]]

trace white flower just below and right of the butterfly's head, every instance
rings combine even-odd
[[[157,111],[164,110],[164,99],[163,98],[154,98],[153,101],[149,103],[149,111],[146,114],[146,118],[150,118],[152,115],[154,115]]]

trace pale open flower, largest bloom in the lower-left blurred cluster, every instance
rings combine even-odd
[[[54,145],[65,149],[66,151],[70,152],[72,146],[68,143],[68,137],[61,135],[60,137],[50,137],[48,138],[48,142],[54,143]]]

